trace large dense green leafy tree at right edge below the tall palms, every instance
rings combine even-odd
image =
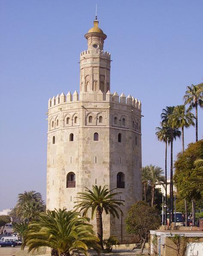
[[[192,182],[199,175],[199,168],[194,161],[203,158],[203,140],[190,143],[184,152],[180,152],[174,164],[175,174],[174,181],[180,196],[190,200],[199,200],[203,191],[197,182]],[[195,215],[195,209],[193,209]],[[193,215],[193,218],[195,216]]]

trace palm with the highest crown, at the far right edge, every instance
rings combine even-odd
[[[191,84],[187,86],[187,90],[183,99],[185,100],[185,105],[189,104],[188,110],[195,108],[195,126],[196,126],[196,142],[198,141],[198,119],[197,119],[197,108],[203,108],[203,92],[202,83],[198,85]]]

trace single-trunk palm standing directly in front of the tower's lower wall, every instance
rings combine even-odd
[[[91,219],[94,217],[96,211],[96,221],[97,221],[97,236],[100,240],[100,246],[103,250],[103,223],[102,223],[102,213],[103,210],[106,214],[111,213],[113,217],[119,218],[118,212],[123,216],[123,212],[120,205],[124,205],[124,200],[117,200],[114,197],[121,192],[112,193],[115,188],[109,190],[107,185],[103,188],[101,186],[93,185],[92,190],[85,188],[86,192],[79,192],[79,201],[75,202],[77,205],[76,209],[83,211],[83,216],[87,216],[88,210],[91,210]],[[74,207],[74,208],[75,208]]]

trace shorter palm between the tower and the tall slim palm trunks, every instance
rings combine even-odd
[[[151,207],[154,206],[155,201],[155,186],[165,181],[164,176],[162,176],[163,170],[161,167],[151,165],[147,166],[149,173],[149,182],[151,185]]]

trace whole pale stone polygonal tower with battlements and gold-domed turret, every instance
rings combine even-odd
[[[110,54],[103,51],[106,34],[97,19],[80,54],[80,93],[48,101],[47,209],[73,209],[77,192],[108,185],[125,200],[120,219],[103,213],[104,237],[134,242],[124,219],[142,197],[141,102],[110,92]],[[92,221],[93,225],[94,220]],[[96,226],[96,225],[94,225]]]

